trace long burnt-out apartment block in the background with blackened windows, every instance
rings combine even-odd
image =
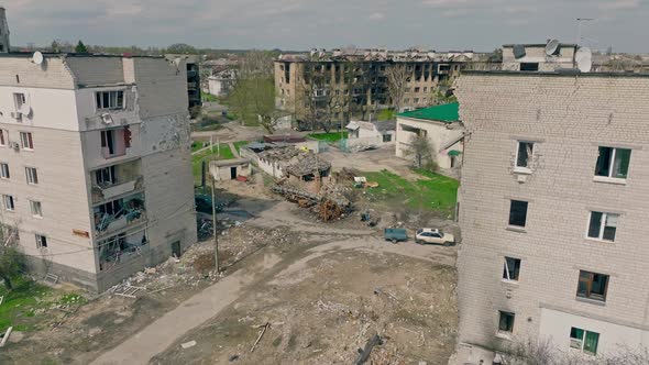
[[[450,86],[460,70],[479,58],[481,64],[499,68],[499,60],[492,63],[473,52],[314,49],[310,54],[283,55],[274,66],[277,107],[298,120],[308,119],[305,99],[312,97],[323,108],[333,106],[334,121],[348,121],[350,115],[366,120],[370,113],[392,107],[387,71],[404,66],[408,76],[402,111],[424,108],[433,103],[438,86]]]

